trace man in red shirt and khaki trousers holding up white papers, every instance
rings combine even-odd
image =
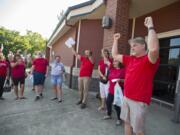
[[[92,58],[92,52],[90,50],[85,50],[85,56],[81,56],[74,50],[73,47],[71,49],[76,58],[81,61],[78,79],[80,100],[77,102],[77,105],[81,104],[81,109],[84,109],[86,108],[89,82],[93,72],[94,61]]]

